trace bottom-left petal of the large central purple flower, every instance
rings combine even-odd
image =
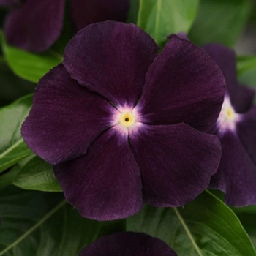
[[[53,167],[67,201],[83,217],[122,219],[143,207],[140,170],[127,136],[109,129],[83,157]]]

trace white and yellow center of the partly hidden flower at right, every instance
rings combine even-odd
[[[220,111],[219,118],[217,120],[217,127],[219,131],[225,132],[226,130],[235,130],[239,116],[240,115],[233,109],[230,98],[225,96],[222,110]]]

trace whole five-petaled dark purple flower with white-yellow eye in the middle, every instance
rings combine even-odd
[[[39,81],[23,138],[84,217],[125,218],[143,200],[183,206],[217,171],[220,143],[205,132],[222,106],[222,73],[176,36],[158,50],[133,24],[92,24]]]

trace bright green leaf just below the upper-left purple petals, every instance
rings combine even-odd
[[[62,56],[54,50],[45,53],[29,53],[2,42],[4,58],[16,75],[37,83],[43,75],[62,61]]]

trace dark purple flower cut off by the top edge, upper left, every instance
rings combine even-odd
[[[4,34],[10,45],[23,50],[41,52],[50,48],[61,34],[65,0],[20,0],[4,23]],[[2,5],[18,0],[0,0]],[[71,0],[71,16],[75,31],[98,21],[125,21],[129,0]]]

